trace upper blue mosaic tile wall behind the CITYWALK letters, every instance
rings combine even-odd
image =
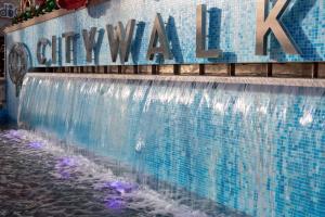
[[[270,0],[271,5],[275,2]],[[220,59],[196,59],[196,7],[208,7],[209,46],[223,50]],[[106,24],[127,23],[136,20],[136,29],[132,43],[132,58],[126,64],[153,63],[240,63],[240,62],[310,62],[325,60],[325,5],[324,0],[291,0],[282,21],[301,55],[287,55],[274,37],[270,37],[266,56],[255,55],[256,0],[119,0],[106,1],[96,7],[78,11],[63,17],[41,23],[8,35],[9,47],[13,42],[25,42],[32,54],[32,66],[39,66],[36,60],[36,46],[41,37],[51,39],[53,35],[62,36],[64,31],[79,33],[76,59],[73,65],[114,65],[110,60]],[[162,15],[169,36],[172,61],[146,60],[146,51],[156,13]],[[99,27],[100,56],[93,63],[87,63],[81,30]],[[64,44],[63,44],[64,46]],[[49,50],[48,55],[51,56]],[[65,63],[64,55],[58,65]],[[55,66],[55,65],[52,65]]]

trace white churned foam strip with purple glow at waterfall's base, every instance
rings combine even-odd
[[[0,138],[1,136],[5,138],[6,135],[9,132],[0,133]],[[101,201],[107,209],[120,213],[120,215],[127,208],[134,210],[148,208],[148,216],[207,216],[204,212],[193,210],[191,207],[180,204],[180,201],[168,199],[147,186],[139,186],[130,174],[126,174],[127,177],[114,175],[109,167],[80,155],[73,146],[72,149],[66,149],[66,145],[62,146],[57,140],[50,140],[49,136],[44,137],[26,130],[17,130],[14,135],[20,135],[20,138],[28,144],[24,145],[23,142],[21,145],[22,151],[29,152],[31,150],[34,154],[47,153],[53,155],[55,158],[54,170],[51,171],[53,177],[62,179],[66,183],[91,182],[93,191],[99,192],[99,195],[104,193]],[[41,149],[29,149],[30,146],[41,146]],[[46,161],[46,158],[43,159]]]

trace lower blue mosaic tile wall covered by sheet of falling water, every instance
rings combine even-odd
[[[28,77],[20,122],[248,215],[323,217],[324,93]]]

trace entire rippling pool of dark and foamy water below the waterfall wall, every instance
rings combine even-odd
[[[0,216],[238,216],[193,209],[190,199],[168,197],[63,146],[25,130],[0,131]]]

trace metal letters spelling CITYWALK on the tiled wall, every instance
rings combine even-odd
[[[273,33],[280,42],[284,52],[288,54],[300,54],[298,47],[295,44],[289,33],[281,23],[280,18],[288,7],[290,0],[277,0],[273,9],[269,12],[269,0],[257,0],[257,17],[256,17],[256,55],[266,55],[268,37]],[[136,21],[130,20],[125,26],[118,22],[116,26],[106,25],[107,39],[109,42],[109,51],[112,61],[115,63],[119,56],[120,63],[125,64],[129,61],[130,48],[133,40]],[[207,5],[200,4],[196,9],[196,58],[209,59],[220,58],[223,51],[220,49],[207,48]],[[65,41],[64,49],[57,49],[57,36],[51,39],[40,38],[37,43],[37,60],[41,65],[48,63],[57,63],[57,50],[65,52],[65,62],[72,63],[75,59],[75,41],[78,33],[67,31],[62,35]],[[100,49],[96,49],[99,41],[99,28],[91,27],[82,30],[83,47],[87,62],[92,63],[93,56]],[[209,39],[211,40],[211,39]],[[47,49],[52,50],[52,56],[47,56]],[[154,61],[156,54],[162,55],[165,60],[172,60],[173,55],[170,43],[166,34],[166,27],[161,14],[157,13],[154,20],[152,34],[147,47],[146,59]]]

